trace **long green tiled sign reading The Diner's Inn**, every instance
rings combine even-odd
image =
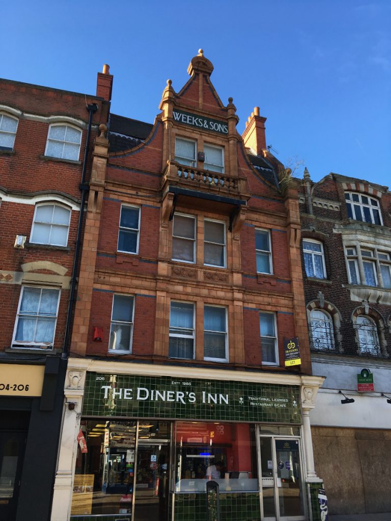
[[[294,385],[87,373],[83,415],[301,423]]]

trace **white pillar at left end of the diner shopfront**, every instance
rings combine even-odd
[[[64,390],[64,419],[59,442],[56,478],[54,481],[51,521],[68,521],[72,502],[72,490],[77,454],[77,435],[80,430],[80,417],[84,389],[85,371],[67,371],[69,385]],[[74,408],[69,408],[69,403]],[[72,405],[71,405],[72,407]]]

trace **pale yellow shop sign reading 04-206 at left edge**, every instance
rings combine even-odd
[[[44,365],[2,364],[0,396],[41,396]]]

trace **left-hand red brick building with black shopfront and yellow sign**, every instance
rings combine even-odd
[[[99,93],[0,80],[2,521],[51,515],[83,156],[107,114]]]

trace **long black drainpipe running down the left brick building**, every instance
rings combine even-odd
[[[72,309],[74,307],[74,300],[75,300],[75,290],[76,290],[76,276],[77,276],[77,270],[79,265],[79,253],[80,253],[80,245],[81,245],[81,231],[83,227],[83,214],[84,214],[84,205],[85,205],[85,197],[87,196],[87,192],[89,191],[89,185],[85,184],[85,170],[87,170],[87,159],[88,159],[88,153],[90,150],[90,136],[91,136],[91,127],[92,127],[92,117],[97,111],[98,106],[96,103],[92,103],[90,105],[87,105],[87,110],[90,113],[90,117],[88,120],[88,129],[87,129],[87,140],[85,142],[85,149],[84,149],[84,159],[83,159],[83,169],[81,172],[81,182],[79,189],[81,191],[81,202],[80,202],[80,214],[79,214],[79,224],[77,228],[77,237],[76,237],[76,246],[75,246],[75,257],[74,257],[74,267],[72,269],[72,278],[70,282],[70,292],[69,292],[69,303],[68,303],[68,314],[67,314],[67,321],[65,325],[65,334],[64,334],[64,345],[63,345],[63,353],[61,357],[63,359],[68,358],[68,343],[69,343],[69,336],[70,336],[70,323],[72,319]]]

